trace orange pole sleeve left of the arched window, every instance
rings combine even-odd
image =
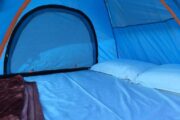
[[[9,40],[9,37],[11,36],[11,33],[18,21],[18,18],[20,17],[21,13],[24,11],[24,9],[28,6],[28,4],[30,3],[31,0],[25,0],[24,3],[22,4],[22,6],[19,8],[19,10],[17,11],[15,17],[13,18],[4,38],[3,38],[3,41],[2,43],[0,44],[0,58],[2,57],[2,53],[3,53],[3,50],[6,46],[6,43],[8,42]]]

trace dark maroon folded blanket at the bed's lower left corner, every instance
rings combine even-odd
[[[0,80],[0,120],[43,120],[35,83],[21,76]]]

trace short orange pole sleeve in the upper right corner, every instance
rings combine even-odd
[[[170,14],[173,16],[173,18],[176,20],[176,22],[180,25],[180,19],[177,17],[175,12],[171,9],[171,7],[165,2],[165,0],[160,0],[161,3],[164,5],[164,7],[170,12]]]

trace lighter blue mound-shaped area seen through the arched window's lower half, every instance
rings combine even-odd
[[[91,49],[93,49],[92,46],[88,44],[69,45],[61,48],[55,48],[42,52],[37,57],[32,56],[32,58],[27,59],[27,61],[21,65],[21,67],[16,67],[18,69],[13,68],[12,70],[13,73],[21,73],[32,70],[43,71],[52,69],[89,67],[94,64],[94,59],[91,57],[93,56]],[[83,51],[83,53],[80,51]],[[81,59],[79,59],[80,56]]]

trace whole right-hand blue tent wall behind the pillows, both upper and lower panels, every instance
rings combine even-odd
[[[119,58],[180,63],[180,26],[160,1],[106,1]],[[178,16],[180,8],[173,1],[166,0]]]

